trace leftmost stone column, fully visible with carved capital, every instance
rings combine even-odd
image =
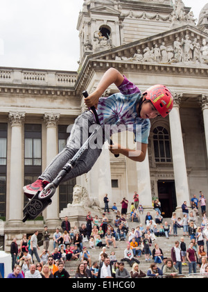
[[[10,154],[10,193],[9,193],[9,218],[10,225],[17,225],[23,218],[23,152],[22,152],[22,123],[25,113],[11,112],[8,115],[11,131]]]

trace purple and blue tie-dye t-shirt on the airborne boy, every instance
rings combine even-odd
[[[111,125],[111,133],[133,131],[135,141],[148,144],[150,120],[141,119],[137,115],[137,104],[141,98],[141,91],[135,84],[124,76],[119,86],[119,93],[110,97],[101,97],[98,103],[98,117],[101,126]]]

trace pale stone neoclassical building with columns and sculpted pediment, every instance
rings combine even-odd
[[[44,221],[51,228],[60,224],[75,184],[85,186],[101,206],[105,193],[121,206],[122,197],[132,202],[137,190],[145,210],[159,197],[164,217],[180,211],[184,201],[190,206],[200,190],[208,200],[208,4],[198,22],[196,17],[182,0],[84,0],[77,24],[78,72],[0,67],[1,241],[8,245],[14,235],[42,228],[41,220],[21,222],[22,187],[63,149],[68,126],[85,111],[83,90],[92,92],[110,67],[141,91],[157,83],[168,86],[173,111],[151,121],[143,163],[116,159],[103,149],[87,175],[61,184]],[[105,96],[117,91],[110,86]],[[131,133],[119,139],[130,143]]]

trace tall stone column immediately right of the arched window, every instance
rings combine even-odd
[[[180,122],[180,102],[182,94],[175,93],[173,110],[169,115],[171,129],[171,146],[173,154],[173,170],[175,176],[175,191],[177,197],[177,209],[181,211],[184,201],[190,206],[189,184],[187,178],[187,165],[184,154],[182,127]]]

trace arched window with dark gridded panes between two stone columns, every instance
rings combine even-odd
[[[172,162],[168,131],[164,127],[156,127],[153,130],[153,141],[155,162]]]

